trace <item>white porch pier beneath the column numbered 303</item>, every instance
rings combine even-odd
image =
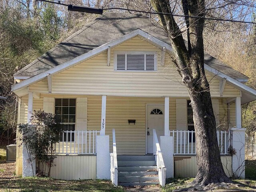
[[[110,179],[109,135],[96,136],[97,179]]]

